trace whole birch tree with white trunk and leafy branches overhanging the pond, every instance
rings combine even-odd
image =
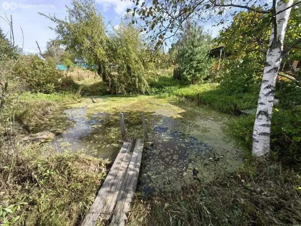
[[[136,5],[139,5],[138,0]],[[301,42],[300,34],[296,34],[295,42],[284,49],[283,41],[287,21],[293,6],[301,1],[293,0],[146,0],[139,7],[133,9],[135,21],[144,21],[144,30],[157,46],[165,44],[166,40],[173,37],[182,24],[193,20],[215,20],[220,15],[218,24],[225,24],[229,17],[240,11],[253,11],[260,14],[271,14],[271,36],[266,62],[262,75],[262,84],[259,92],[256,119],[253,130],[253,153],[265,155],[270,150],[270,130],[272,110],[275,95],[275,84],[281,61],[284,55]],[[131,11],[131,10],[128,10]]]

